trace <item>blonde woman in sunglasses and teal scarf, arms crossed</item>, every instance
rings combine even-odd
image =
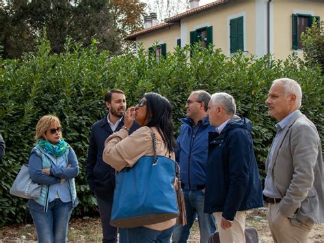
[[[36,145],[29,157],[29,175],[42,185],[40,197],[29,199],[38,242],[66,242],[68,220],[78,204],[75,177],[79,172],[77,156],[62,138],[56,116],[42,116],[36,125]]]

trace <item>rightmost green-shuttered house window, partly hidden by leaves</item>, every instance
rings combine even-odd
[[[313,19],[319,21],[318,16],[311,16],[307,14],[293,14],[293,49],[302,49],[301,33],[306,31],[307,27],[312,27]],[[319,23],[319,22],[318,22]]]

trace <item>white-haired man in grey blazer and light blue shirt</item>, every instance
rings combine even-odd
[[[321,140],[299,111],[301,88],[293,79],[273,81],[266,101],[278,120],[267,157],[263,194],[274,242],[307,242],[315,223],[324,222]]]

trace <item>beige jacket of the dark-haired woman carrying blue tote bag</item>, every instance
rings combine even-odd
[[[157,136],[157,155],[169,157],[169,151],[167,151],[161,136],[156,129],[153,128],[153,131]],[[141,127],[130,136],[126,129],[120,129],[105,141],[103,161],[115,168],[117,172],[124,167],[132,167],[144,155],[154,155],[152,131],[149,127]],[[174,153],[171,154],[171,158],[174,159]],[[144,227],[161,231],[169,229],[175,224],[176,218]]]

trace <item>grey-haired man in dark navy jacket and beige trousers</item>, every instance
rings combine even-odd
[[[206,176],[206,213],[213,213],[221,242],[245,242],[245,210],[263,206],[252,142],[252,123],[235,115],[234,98],[215,93],[208,104],[211,125]]]

